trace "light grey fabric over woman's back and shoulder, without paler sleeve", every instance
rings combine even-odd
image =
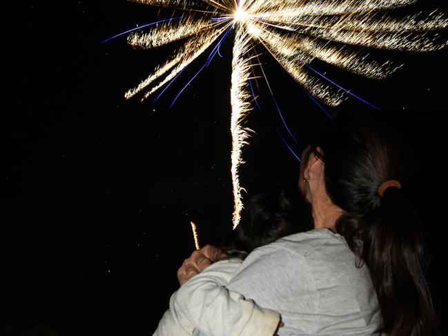
[[[256,273],[246,270],[253,262]],[[255,249],[227,288],[279,312],[278,335],[372,335],[380,309],[369,270],[356,264],[344,238],[311,230]]]

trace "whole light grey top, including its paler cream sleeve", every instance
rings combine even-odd
[[[284,322],[280,336],[376,335],[380,326],[369,270],[356,267],[345,240],[330,230],[284,237],[255,249],[236,272],[228,266],[211,266],[172,297],[171,313],[188,320],[186,333],[271,336],[275,312]]]

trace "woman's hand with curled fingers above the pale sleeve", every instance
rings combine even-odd
[[[216,261],[226,259],[228,256],[220,248],[206,245],[200,250],[195,250],[191,256],[184,260],[184,264],[177,270],[177,280],[182,286],[188,279],[194,277],[202,270]]]

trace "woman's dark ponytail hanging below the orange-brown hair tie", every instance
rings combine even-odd
[[[418,213],[402,190],[387,188],[367,215],[347,213],[336,230],[369,270],[382,314],[378,332],[437,335],[437,319],[425,279],[425,237]]]

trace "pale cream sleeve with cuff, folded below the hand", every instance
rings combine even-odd
[[[240,262],[233,259],[218,261],[186,281],[173,294],[170,310],[173,317],[187,327],[189,335],[193,328],[213,336],[274,335],[280,323],[279,313],[261,308],[225,288],[238,266]]]

